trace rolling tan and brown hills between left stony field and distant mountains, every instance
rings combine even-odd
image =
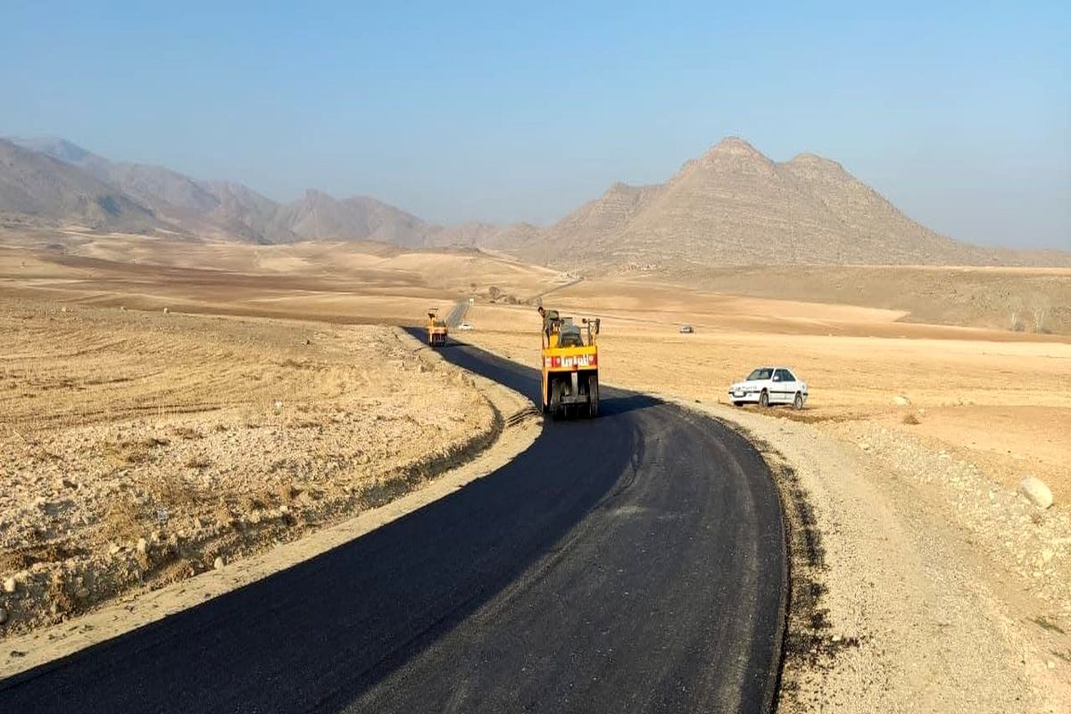
[[[416,324],[462,298],[517,302],[573,280],[472,248],[0,230],[0,295],[66,304]]]

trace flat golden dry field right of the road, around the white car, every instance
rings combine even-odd
[[[753,367],[786,365],[806,381],[808,408],[771,415],[842,431],[903,431],[984,464],[1009,488],[1037,475],[1057,504],[1071,502],[1066,336],[919,324],[897,310],[630,280],[585,282],[544,302],[602,318],[605,383],[727,404],[728,384]],[[478,304],[469,321],[476,329],[466,339],[539,364],[531,307]],[[695,334],[680,334],[684,323]]]

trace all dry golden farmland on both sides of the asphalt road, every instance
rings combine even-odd
[[[1002,279],[1020,273],[1039,274]],[[1071,279],[1045,275],[1057,290]],[[163,582],[293,537],[378,502],[377,484],[397,474],[410,483],[429,444],[480,432],[491,411],[470,386],[419,371],[387,326],[470,295],[464,338],[525,364],[538,365],[538,318],[514,303],[541,297],[602,318],[605,383],[716,404],[754,366],[784,364],[810,402],[769,415],[864,446],[902,435],[1008,489],[1037,475],[1055,510],[1071,502],[1067,336],[650,279],[576,282],[473,250],[22,233],[0,247],[0,550],[4,573],[69,574],[59,609],[32,618],[78,611],[116,590],[109,579]],[[265,538],[228,535],[253,518],[274,523]],[[94,558],[118,563],[96,586],[78,565]]]

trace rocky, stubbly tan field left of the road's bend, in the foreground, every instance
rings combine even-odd
[[[0,637],[389,502],[500,417],[390,328],[4,301]]]

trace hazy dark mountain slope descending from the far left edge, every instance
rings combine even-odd
[[[115,186],[3,139],[0,213],[109,230],[147,231],[160,226],[152,211]]]

